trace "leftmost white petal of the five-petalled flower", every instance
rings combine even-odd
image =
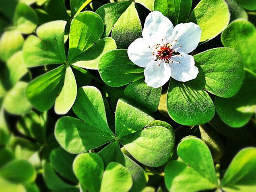
[[[149,40],[144,38],[133,41],[127,51],[129,59],[140,67],[146,67],[150,61],[155,60],[149,48],[152,46],[151,44]]]

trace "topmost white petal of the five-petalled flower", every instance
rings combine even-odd
[[[153,11],[146,18],[142,36],[144,38],[153,37],[159,40],[171,36],[172,32],[173,25],[171,21],[161,12]]]

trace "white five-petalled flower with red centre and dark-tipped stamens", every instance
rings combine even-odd
[[[177,81],[196,78],[198,68],[194,57],[188,55],[196,49],[201,29],[194,23],[180,23],[173,29],[171,21],[159,11],[146,18],[142,37],[128,47],[130,60],[144,67],[145,82],[157,88],[170,77]]]

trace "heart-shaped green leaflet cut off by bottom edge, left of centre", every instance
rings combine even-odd
[[[128,192],[132,187],[132,177],[126,167],[111,162],[103,172],[103,161],[94,153],[78,155],[73,170],[81,185],[90,192]]]

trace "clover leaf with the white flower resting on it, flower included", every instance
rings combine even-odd
[[[203,29],[202,35],[205,33]],[[215,106],[205,90],[219,97],[232,97],[242,86],[244,69],[241,56],[230,48],[188,55],[200,39],[202,41],[200,35],[198,25],[178,24],[173,29],[169,19],[154,11],[145,21],[143,38],[134,41],[128,50],[103,54],[99,60],[101,78],[112,87],[134,82],[124,94],[139,105],[156,111],[161,86],[171,76],[167,100],[163,101],[167,103],[169,116],[184,125],[208,122],[215,114]],[[151,87],[143,85],[141,79],[144,76]]]

